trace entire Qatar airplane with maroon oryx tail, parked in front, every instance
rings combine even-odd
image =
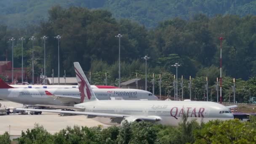
[[[43,112],[57,112],[66,114],[87,115],[93,117],[109,117],[113,123],[150,121],[167,125],[178,125],[183,115],[188,120],[207,122],[209,120],[229,120],[234,116],[228,107],[208,101],[111,101],[98,100],[91,89],[85,74],[78,62],[74,63],[75,73],[83,103],[75,104],[74,107],[61,107],[76,111],[61,111],[42,109]],[[19,110],[38,111],[38,109]]]

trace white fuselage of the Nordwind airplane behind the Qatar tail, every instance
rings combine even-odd
[[[2,88],[0,89],[0,99],[13,101],[21,104],[35,105],[60,105],[73,106],[75,103],[63,103],[59,99],[47,96],[45,91],[49,91],[53,95],[59,96],[73,96],[80,98],[78,88]],[[152,93],[137,89],[93,89],[97,98],[100,100],[107,100],[110,97],[121,97],[124,100],[139,100],[148,99],[156,100],[157,97]]]

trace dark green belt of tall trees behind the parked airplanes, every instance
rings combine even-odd
[[[141,57],[148,55],[148,80],[152,73],[162,74],[164,93],[173,90],[171,82],[178,62],[179,77],[184,75],[187,85],[189,75],[193,77],[193,95],[202,99],[204,95],[205,76],[209,85],[215,89],[214,82],[219,77],[219,37],[223,37],[224,99],[230,95],[232,78],[237,80],[238,101],[248,101],[251,93],[256,95],[256,16],[217,15],[209,17],[196,14],[189,20],[174,18],[161,21],[157,27],[147,29],[145,26],[128,20],[117,20],[106,10],[56,6],[50,9],[48,20],[39,25],[31,24],[20,29],[8,29],[0,26],[0,61],[5,60],[5,51],[11,59],[10,37],[14,41],[14,67],[21,67],[21,42],[24,41],[24,67],[31,72],[32,42],[29,37],[35,36],[35,73],[43,67],[43,41],[46,40],[46,71],[51,76],[52,69],[58,66],[58,42],[54,36],[61,35],[60,42],[60,75],[74,76],[73,62],[79,61],[85,71],[92,72],[93,84],[104,84],[105,72],[108,73],[108,84],[116,85],[118,77],[118,33],[121,39],[121,81],[134,78],[136,72],[144,78],[145,65]],[[196,77],[197,76],[197,77]],[[249,79],[249,80],[248,80]],[[248,81],[244,81],[248,80]],[[251,92],[246,90],[250,89]],[[187,87],[184,88],[187,95]]]

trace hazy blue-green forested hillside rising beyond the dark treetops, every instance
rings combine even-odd
[[[117,19],[130,19],[146,27],[174,17],[192,19],[197,13],[209,17],[256,14],[256,0],[1,0],[0,22],[10,28],[39,24],[48,19],[47,12],[55,5],[106,9]]]

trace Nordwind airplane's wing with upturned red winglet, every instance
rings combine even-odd
[[[46,95],[49,97],[52,97],[54,99],[58,99],[61,101],[61,103],[70,103],[70,102],[75,102],[76,104],[80,103],[80,97],[75,97],[75,96],[62,96],[62,95],[54,95],[50,93],[49,91],[45,91]]]

